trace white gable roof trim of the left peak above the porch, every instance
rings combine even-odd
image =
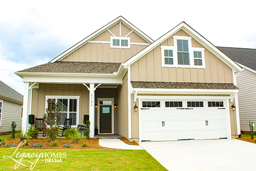
[[[76,45],[74,45],[73,47],[69,48],[65,52],[61,53],[60,55],[58,55],[57,57],[52,59],[50,62],[56,62],[56,61],[59,61],[59,60],[63,59],[64,57],[68,56],[69,54],[71,54],[72,52],[77,50],[78,48],[82,47],[88,41],[94,39],[95,37],[97,37],[98,35],[100,35],[101,33],[103,33],[104,31],[108,30],[109,28],[111,28],[112,26],[116,25],[119,22],[121,22],[126,27],[130,28],[131,30],[133,30],[136,34],[138,34],[140,37],[142,37],[149,44],[151,44],[154,41],[153,39],[148,37],[145,33],[140,31],[137,27],[135,27],[133,24],[128,22],[125,18],[123,18],[122,16],[119,16],[116,19],[114,19],[112,22],[110,22],[109,24],[106,24],[105,26],[103,26],[102,28],[97,30],[96,32],[92,33],[88,37],[86,37],[83,40],[79,41]]]

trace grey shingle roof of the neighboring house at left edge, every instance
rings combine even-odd
[[[23,101],[23,95],[16,92],[11,87],[7,86],[4,82],[0,81],[0,95]]]

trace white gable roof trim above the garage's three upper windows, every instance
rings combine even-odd
[[[180,23],[172,30],[168,31],[166,34],[158,38],[156,41],[154,41],[151,45],[148,45],[146,48],[142,49],[140,52],[132,56],[130,59],[126,60],[123,63],[124,67],[127,67],[128,65],[132,65],[132,63],[136,62],[138,59],[140,59],[142,56],[159,46],[163,41],[165,41],[170,36],[174,35],[179,30],[185,31],[188,35],[196,39],[200,44],[202,44],[206,49],[208,49],[211,53],[216,55],[219,59],[221,59],[226,65],[228,65],[230,68],[234,70],[234,72],[239,72],[242,70],[242,68],[233,60],[231,60],[228,56],[226,56],[223,52],[221,52],[218,48],[216,48],[214,45],[211,44],[207,39],[205,39],[202,35],[200,35],[197,31],[195,31],[193,28],[188,26],[185,22]]]

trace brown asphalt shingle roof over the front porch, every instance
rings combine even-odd
[[[113,74],[118,71],[120,65],[121,63],[106,62],[54,62],[18,72]]]

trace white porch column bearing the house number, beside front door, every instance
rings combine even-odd
[[[94,137],[94,117],[95,117],[94,83],[90,83],[90,107],[89,107],[89,120],[91,122],[90,138]]]

